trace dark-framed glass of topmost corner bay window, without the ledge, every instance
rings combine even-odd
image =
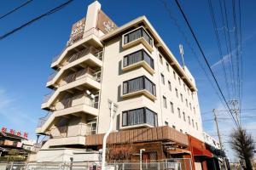
[[[150,46],[153,46],[153,40],[151,37],[149,37],[148,32],[146,32],[143,27],[135,30],[135,31],[131,31],[128,34],[126,34],[124,36],[124,44],[129,43],[129,42],[133,42],[135,40],[137,40],[138,38],[143,37],[149,44]]]

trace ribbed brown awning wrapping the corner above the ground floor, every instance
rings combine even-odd
[[[102,145],[104,133],[86,136],[86,145]],[[108,144],[127,144],[134,142],[150,142],[150,141],[173,141],[177,144],[189,145],[187,135],[178,132],[172,127],[150,127],[119,131],[110,133],[108,136]]]

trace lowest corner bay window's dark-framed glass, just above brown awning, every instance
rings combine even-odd
[[[146,107],[123,111],[122,113],[122,125],[132,126],[137,124],[147,123],[152,126],[157,126],[157,115],[154,111],[149,110]]]

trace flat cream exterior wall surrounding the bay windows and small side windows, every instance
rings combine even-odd
[[[158,125],[164,126],[165,122],[168,122],[170,127],[175,126],[177,130],[182,129],[183,133],[189,133],[198,139],[202,138],[202,127],[201,127],[201,112],[198,104],[197,94],[192,94],[188,87],[183,88],[183,80],[181,79],[181,85],[178,82],[178,75],[176,73],[176,80],[173,77],[172,65],[169,65],[169,70],[166,68],[166,59],[163,57],[163,64],[160,63],[160,54],[156,47],[152,53],[148,52],[147,48],[140,43],[132,48],[123,49],[121,36],[115,37],[113,40],[107,42],[104,48],[104,60],[103,60],[103,71],[102,71],[102,94],[101,94],[101,107],[98,122],[98,133],[106,133],[109,126],[109,109],[108,109],[108,99],[113,100],[118,107],[117,115],[114,123],[119,122],[119,126],[116,124],[114,130],[118,130],[117,127],[121,127],[121,113],[122,111],[127,111],[131,109],[140,108],[143,106],[148,107],[148,109],[154,111],[158,115]],[[136,68],[131,71],[122,71],[123,58],[126,54],[131,54],[139,49],[144,49],[151,57],[154,59],[154,74],[151,75],[143,67]],[[188,75],[190,76],[189,71]],[[161,82],[160,74],[165,76],[165,84]],[[156,86],[156,100],[152,101],[144,96],[134,97],[131,99],[122,98],[122,84],[126,80],[130,80],[135,77],[140,77],[145,75],[148,79],[154,82]],[[190,76],[192,82],[194,78]],[[172,84],[172,90],[168,87],[168,81]],[[175,88],[178,91],[178,98],[176,97]],[[181,101],[180,94],[183,94],[183,102]],[[167,100],[167,108],[163,107],[163,96]],[[186,105],[186,99],[188,99],[188,106]],[[171,111],[171,104],[174,105],[174,113]],[[191,103],[191,110],[189,107]],[[195,112],[194,112],[195,107]],[[177,108],[181,110],[181,118],[178,117]],[[185,113],[186,122],[183,121],[183,112]],[[190,117],[190,125],[188,122],[188,116]],[[120,121],[117,121],[117,117],[120,117]],[[192,125],[192,119],[194,120],[194,127]],[[196,129],[196,124],[198,130]]]

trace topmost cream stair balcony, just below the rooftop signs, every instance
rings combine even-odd
[[[67,42],[67,46],[61,51],[61,53],[53,58],[51,67],[54,69],[58,68],[60,66],[61,60],[64,59],[68,54],[80,51],[84,47],[93,46],[95,48],[102,48],[102,42],[98,37],[99,32],[93,28],[84,32],[83,37],[80,37],[73,42]]]

